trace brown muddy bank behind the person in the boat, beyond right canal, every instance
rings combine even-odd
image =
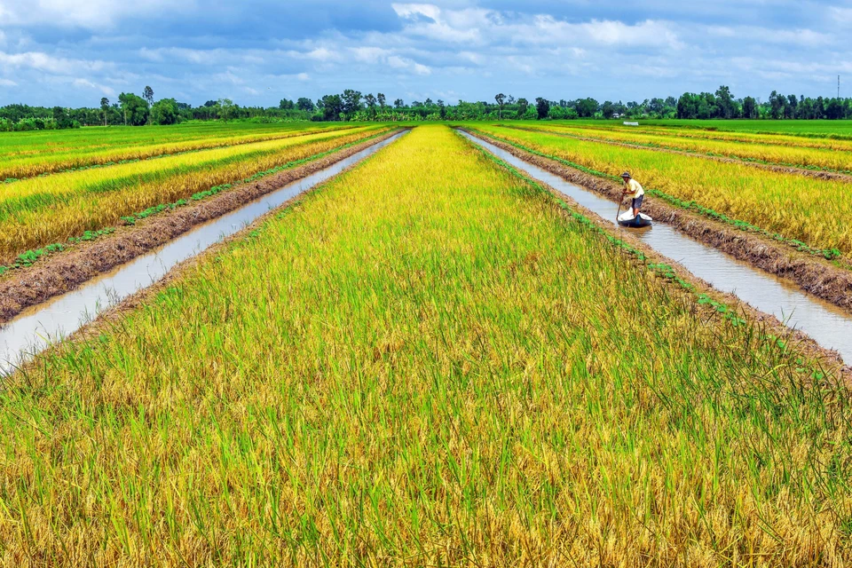
[[[555,160],[526,153],[515,146],[477,132],[465,131],[525,162],[563,177],[575,185],[600,193],[611,201],[618,201],[621,198],[619,184],[574,170]],[[852,313],[852,272],[846,269],[760,235],[746,233],[683,209],[677,209],[665,201],[649,199],[643,204],[643,210],[655,220],[672,225],[699,242],[718,248],[764,272],[790,280],[809,294],[840,307],[844,312]]]

